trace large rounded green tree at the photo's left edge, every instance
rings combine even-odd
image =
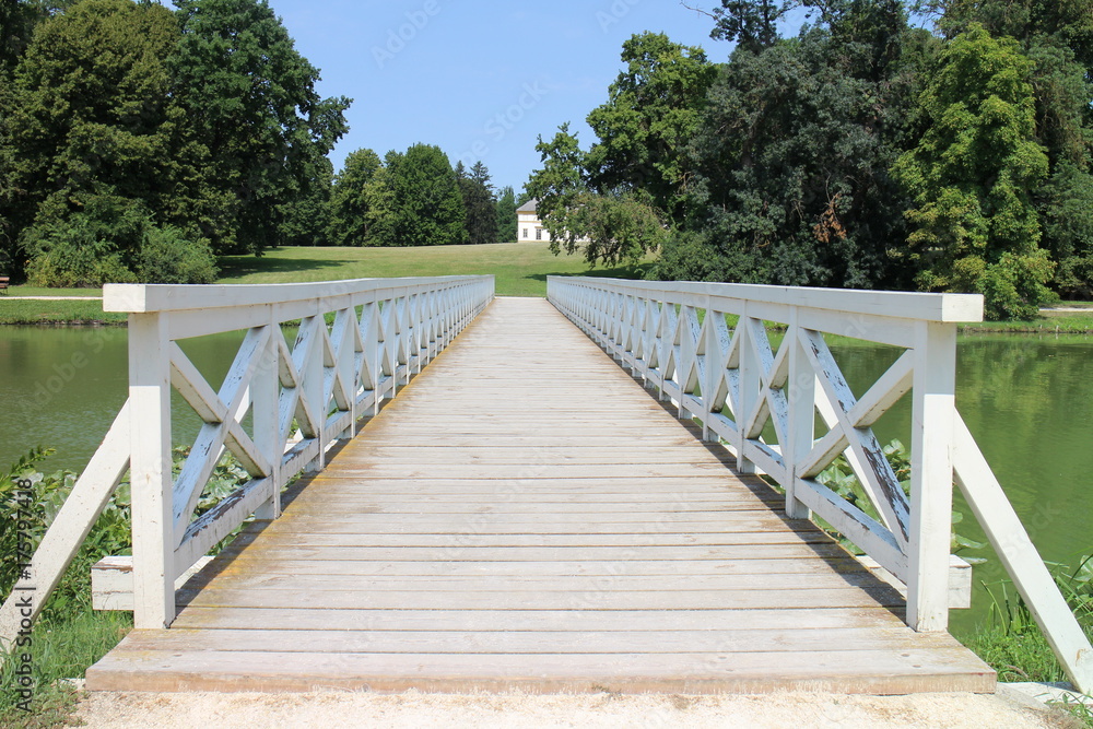
[[[80,239],[64,234],[74,225],[95,231],[89,261],[126,258],[140,236],[125,231],[141,225],[120,221],[169,217],[181,176],[166,62],[177,40],[168,10],[130,0],[85,0],[38,26],[0,125],[5,216],[27,257]],[[121,258],[111,270],[125,270]]]

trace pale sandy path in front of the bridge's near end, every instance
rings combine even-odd
[[[1003,695],[843,696],[85,694],[89,727],[1070,727],[1072,720]]]

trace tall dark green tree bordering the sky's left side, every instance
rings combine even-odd
[[[202,221],[221,250],[282,242],[284,205],[306,198],[317,156],[346,129],[350,99],[320,98],[319,73],[266,0],[176,0],[174,93],[188,149],[219,209]]]

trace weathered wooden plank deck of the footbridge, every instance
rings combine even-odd
[[[550,304],[497,299],[87,687],[994,691],[731,462]]]

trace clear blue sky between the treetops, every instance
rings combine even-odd
[[[320,69],[319,93],[354,99],[336,169],[361,148],[383,155],[425,142],[453,164],[481,160],[494,185],[517,190],[539,166],[539,134],[571,121],[589,146],[585,117],[607,101],[634,33],[663,32],[714,61],[730,50],[678,0],[269,1]]]

